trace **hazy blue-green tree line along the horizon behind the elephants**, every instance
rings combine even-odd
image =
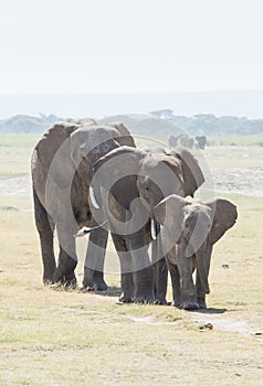
[[[43,133],[56,121],[65,120],[54,115],[39,117],[18,115],[0,120],[0,133]],[[263,119],[199,114],[192,117],[176,116],[170,109],[155,110],[149,115],[129,114],[105,117],[99,124],[122,121],[135,135],[160,136],[178,133],[182,130],[191,136],[246,136],[263,135]]]

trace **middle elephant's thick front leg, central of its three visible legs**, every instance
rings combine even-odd
[[[129,249],[133,257],[135,302],[152,303],[154,294],[154,268],[148,255],[145,229],[129,236]]]

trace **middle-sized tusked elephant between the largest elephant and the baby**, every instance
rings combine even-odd
[[[165,302],[167,268],[160,245],[152,243],[155,269],[148,255],[150,218],[155,221],[154,207],[165,196],[193,195],[202,184],[196,159],[186,149],[154,157],[122,147],[101,158],[93,172],[92,185],[97,192],[101,190],[99,206],[104,207],[120,260],[120,301]],[[113,179],[118,181],[114,185]],[[130,218],[133,224],[140,224],[136,230],[130,228]]]

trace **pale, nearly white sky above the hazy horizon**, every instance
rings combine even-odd
[[[0,0],[0,95],[263,89],[262,0]]]

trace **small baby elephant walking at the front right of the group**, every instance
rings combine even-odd
[[[234,225],[235,205],[228,200],[202,204],[170,195],[155,207],[155,215],[164,226],[164,245],[169,249],[173,245],[167,254],[173,304],[185,310],[207,308],[212,247]],[[192,272],[196,268],[194,286]]]

